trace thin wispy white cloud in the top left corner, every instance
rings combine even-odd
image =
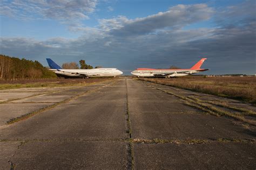
[[[87,19],[88,14],[95,11],[97,0],[14,0],[1,1],[1,15],[17,19]]]

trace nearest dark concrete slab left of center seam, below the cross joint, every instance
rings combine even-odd
[[[32,141],[11,161],[17,169],[125,169],[126,143],[102,141]]]

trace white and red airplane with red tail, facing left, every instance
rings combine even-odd
[[[137,68],[131,74],[138,77],[180,77],[190,74],[205,72],[209,69],[200,68],[206,58],[201,59],[191,68],[188,69],[154,69],[154,68]]]

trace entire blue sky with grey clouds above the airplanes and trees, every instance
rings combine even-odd
[[[1,0],[0,53],[138,67],[254,74],[256,1]],[[206,72],[205,72],[206,73]]]

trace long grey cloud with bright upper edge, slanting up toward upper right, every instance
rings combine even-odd
[[[160,29],[180,29],[192,23],[201,22],[213,14],[213,9],[206,4],[176,5],[166,12],[144,18],[127,19],[118,16],[112,19],[102,19],[100,26],[103,29],[112,30],[116,36],[136,36],[151,33]]]

